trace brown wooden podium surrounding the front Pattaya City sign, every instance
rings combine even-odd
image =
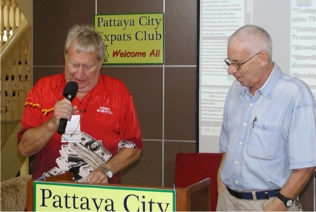
[[[47,182],[53,183],[74,183],[74,184],[86,184],[86,185],[105,185],[98,183],[77,183],[72,181],[72,173],[65,173],[61,175],[51,176],[45,179]],[[145,186],[133,186],[133,185],[114,185],[106,184],[108,187],[133,187],[133,188],[148,188],[159,190],[176,190],[176,211],[210,211],[209,199],[210,199],[210,178],[199,181],[188,187],[145,187]],[[27,211],[33,211],[34,204],[34,180],[27,181]]]

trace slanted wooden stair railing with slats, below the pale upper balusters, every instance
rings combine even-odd
[[[22,117],[27,91],[32,86],[32,31],[23,20],[1,48],[1,121]]]

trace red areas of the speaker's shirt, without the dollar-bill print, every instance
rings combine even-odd
[[[53,116],[55,102],[62,100],[62,91],[66,85],[65,74],[57,74],[40,79],[27,94],[25,112],[18,133],[18,143],[23,133],[40,126]],[[133,104],[133,98],[122,81],[100,74],[98,84],[82,100],[74,98],[72,105],[86,111],[81,116],[81,131],[96,140],[101,140],[105,149],[118,152],[119,140],[127,140],[143,149],[140,127]],[[55,132],[49,143],[35,154],[33,179],[44,172],[58,167],[56,159],[60,157],[61,135]],[[114,175],[110,183],[120,183],[121,175]]]

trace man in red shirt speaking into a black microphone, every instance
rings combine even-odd
[[[140,158],[143,143],[133,98],[122,81],[100,74],[105,44],[93,27],[76,25],[65,44],[65,72],[40,79],[29,91],[18,150],[34,157],[32,178],[72,171],[74,180],[120,183]],[[64,98],[66,84],[77,95]],[[67,119],[65,134],[58,133]]]

